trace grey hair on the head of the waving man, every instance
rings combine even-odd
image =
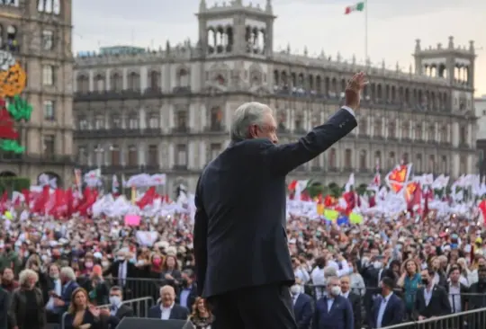
[[[263,124],[263,116],[266,112],[272,113],[273,111],[261,102],[246,102],[238,106],[233,114],[229,138],[235,142],[247,139],[248,127],[254,124]]]

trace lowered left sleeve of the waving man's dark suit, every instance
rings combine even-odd
[[[201,188],[199,186],[200,183],[201,183],[201,178],[199,179],[199,182],[197,184],[198,186],[194,196],[196,213],[194,216],[193,245],[194,245],[194,261],[195,261],[197,294],[199,296],[202,296],[202,291],[204,290],[204,280],[206,279],[206,267],[208,262],[208,253],[207,253],[208,216],[206,215],[202,207]]]

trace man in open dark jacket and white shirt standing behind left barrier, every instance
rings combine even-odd
[[[124,251],[116,253],[116,261],[112,262],[108,270],[103,272],[103,275],[112,274],[113,284],[123,289],[123,296],[131,298],[132,286],[134,285],[137,268],[134,264],[128,261],[127,254]],[[131,280],[126,280],[130,278]]]

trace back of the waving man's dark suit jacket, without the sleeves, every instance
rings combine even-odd
[[[196,193],[208,218],[204,296],[294,280],[285,232],[285,176],[264,163],[269,142],[229,146]]]

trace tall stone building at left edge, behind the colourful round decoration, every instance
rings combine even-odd
[[[27,74],[23,97],[31,120],[19,124],[25,153],[0,154],[0,176],[41,173],[71,182],[73,173],[73,63],[70,0],[14,0],[0,4],[2,50],[11,52]]]

